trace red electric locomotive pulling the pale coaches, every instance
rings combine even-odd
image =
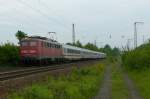
[[[21,62],[25,64],[47,63],[62,58],[62,46],[44,37],[29,37],[21,41]]]

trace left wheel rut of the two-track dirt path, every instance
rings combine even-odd
[[[94,99],[110,99],[111,95],[111,66],[107,66],[104,72],[104,79],[98,95]]]

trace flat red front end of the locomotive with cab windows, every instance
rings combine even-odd
[[[41,42],[36,39],[23,39],[20,46],[21,62],[37,63],[40,58]]]

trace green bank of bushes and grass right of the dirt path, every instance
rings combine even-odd
[[[150,43],[125,52],[122,61],[144,99],[150,99]]]

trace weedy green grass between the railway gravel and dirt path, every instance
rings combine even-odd
[[[45,82],[10,94],[8,99],[91,99],[103,78],[103,68],[102,64],[74,68],[70,75],[48,77]]]

